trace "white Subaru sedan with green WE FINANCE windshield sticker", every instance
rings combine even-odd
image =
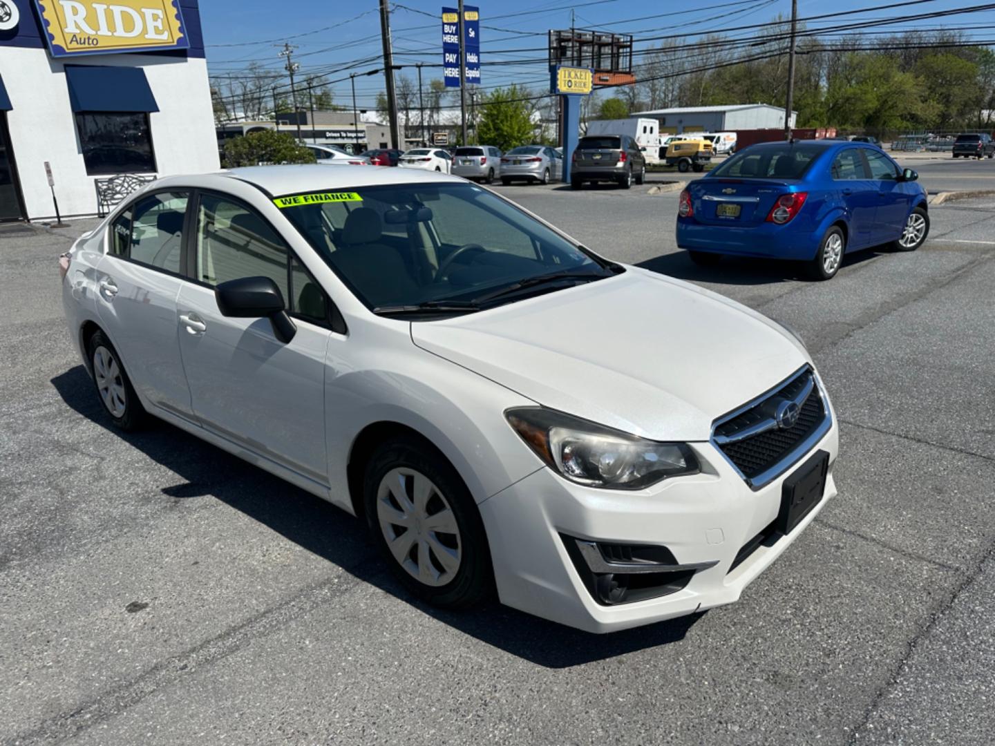
[[[413,593],[610,632],[735,601],[836,494],[801,341],[393,168],[160,179],[62,258],[109,420],[364,517]]]

